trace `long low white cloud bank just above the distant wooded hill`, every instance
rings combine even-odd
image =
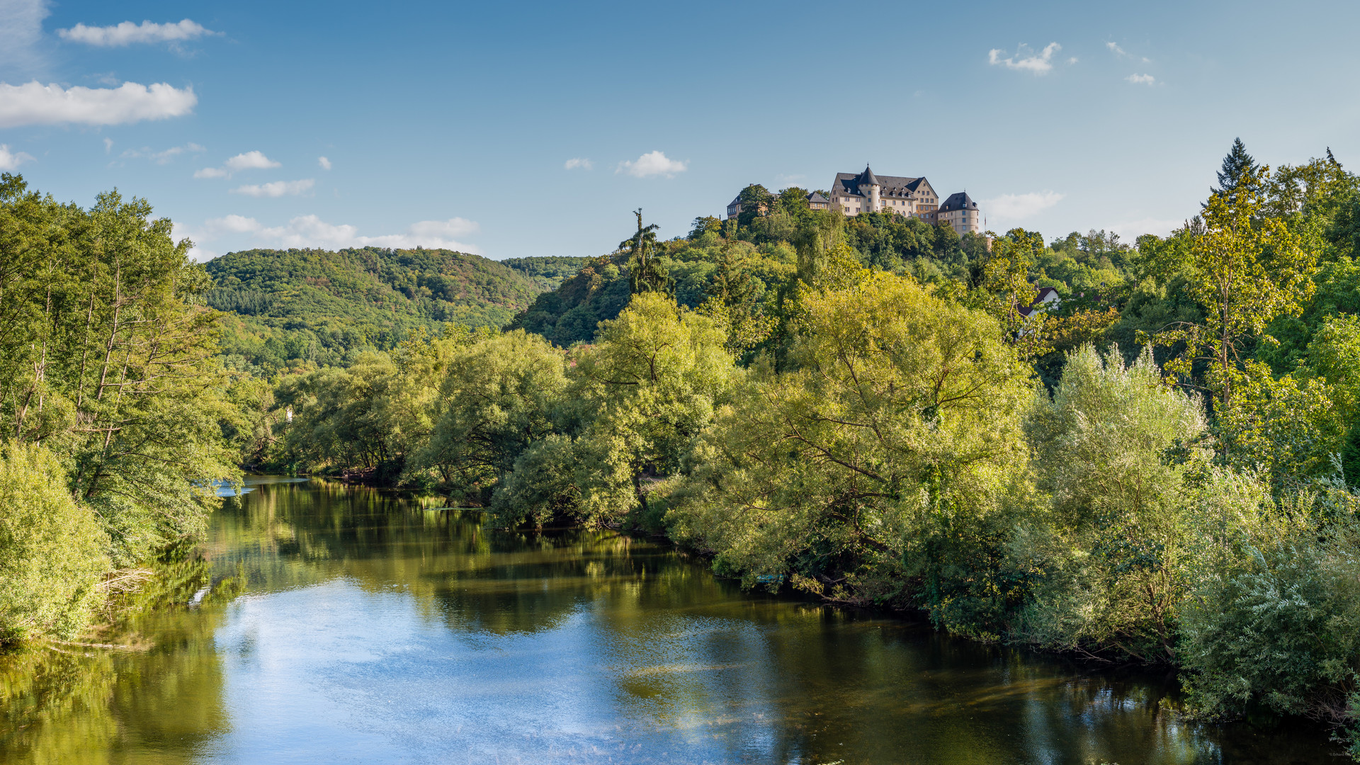
[[[222,234],[252,234],[261,242],[287,248],[385,246],[408,249],[426,246],[476,253],[477,248],[453,238],[476,230],[477,223],[465,218],[420,221],[408,226],[404,234],[378,237],[360,235],[355,226],[326,223],[316,215],[299,215],[288,221],[286,226],[264,226],[254,218],[243,215],[227,215],[204,222],[204,238],[215,238]]]

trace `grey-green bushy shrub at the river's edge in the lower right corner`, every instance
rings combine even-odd
[[[1360,670],[1360,528],[1355,500],[1280,504],[1242,483],[1205,531],[1219,551],[1187,600],[1182,662],[1190,709],[1263,709],[1352,724]],[[1216,534],[1214,534],[1216,531]],[[1350,734],[1355,742],[1355,731]]]

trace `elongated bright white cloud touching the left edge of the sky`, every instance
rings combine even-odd
[[[169,83],[150,86],[133,82],[118,87],[63,88],[60,84],[0,83],[0,128],[19,125],[121,125],[140,120],[182,117],[193,112],[199,97],[192,87],[175,88]]]

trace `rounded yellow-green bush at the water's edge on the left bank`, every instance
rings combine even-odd
[[[107,543],[50,452],[0,446],[0,642],[79,632],[109,568]]]

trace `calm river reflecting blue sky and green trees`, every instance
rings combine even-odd
[[[122,625],[139,649],[0,659],[0,761],[1340,762],[1180,724],[1164,677],[752,596],[666,546],[248,483],[158,584],[180,604]]]

